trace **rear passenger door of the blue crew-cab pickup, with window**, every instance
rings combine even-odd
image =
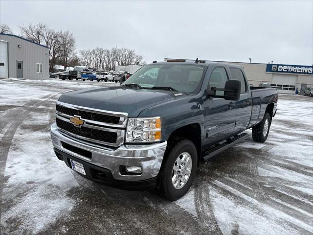
[[[244,71],[239,68],[229,68],[231,79],[241,82],[240,99],[236,101],[236,132],[245,131],[249,125],[252,112],[252,97]]]

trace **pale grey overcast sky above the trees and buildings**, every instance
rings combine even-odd
[[[164,58],[313,64],[313,1],[8,1],[0,23],[70,30],[77,51],[132,48]]]

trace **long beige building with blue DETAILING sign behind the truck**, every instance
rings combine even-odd
[[[169,58],[165,58],[165,61]],[[303,94],[306,87],[313,87],[313,67],[307,65],[283,65],[243,63],[230,61],[215,61],[227,64],[240,65],[244,68],[247,79],[253,86],[261,82],[271,84],[278,93]]]

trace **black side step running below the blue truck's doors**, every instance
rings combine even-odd
[[[212,158],[213,156],[224,151],[225,149],[245,140],[248,136],[249,136],[249,134],[243,133],[241,135],[231,137],[230,139],[227,139],[226,141],[224,141],[222,143],[213,145],[213,147],[211,147],[208,150],[206,150],[205,152],[203,152],[203,160],[206,161],[206,160]]]

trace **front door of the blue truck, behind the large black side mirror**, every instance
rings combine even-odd
[[[224,67],[216,67],[211,73],[208,88],[224,88],[228,77]],[[224,95],[224,91],[216,91],[216,95]],[[205,147],[232,136],[235,132],[236,101],[213,97],[212,100],[206,99],[203,106]]]

